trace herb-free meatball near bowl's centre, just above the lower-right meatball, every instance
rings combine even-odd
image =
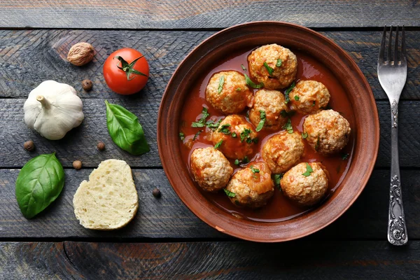
[[[286,130],[270,137],[262,146],[261,156],[274,174],[286,172],[300,159],[304,151],[302,136]]]

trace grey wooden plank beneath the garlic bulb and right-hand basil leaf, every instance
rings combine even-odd
[[[146,95],[109,99],[109,102],[125,106],[139,116],[144,127],[151,151],[140,156],[130,155],[113,144],[106,128],[104,99],[84,99],[85,120],[80,127],[71,130],[64,139],[50,141],[37,132],[29,130],[23,118],[25,99],[0,99],[0,167],[22,167],[41,153],[57,151],[57,157],[64,167],[71,167],[74,160],[81,160],[85,167],[97,167],[99,162],[109,158],[123,159],[132,167],[160,167],[161,162],[156,144],[156,125],[160,99]],[[391,117],[387,101],[377,102],[381,127],[381,141],[377,167],[389,167],[391,159]],[[419,101],[400,103],[400,165],[420,167],[420,139],[417,122]],[[357,118],[357,116],[356,116]],[[29,153],[23,148],[27,140],[33,140],[36,151]],[[97,150],[97,141],[104,141],[105,151]]]

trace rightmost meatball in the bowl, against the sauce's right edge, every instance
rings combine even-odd
[[[305,118],[303,131],[307,141],[321,155],[341,151],[350,138],[350,124],[339,113],[325,110]]]

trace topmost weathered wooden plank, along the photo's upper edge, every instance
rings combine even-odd
[[[255,20],[309,27],[418,26],[417,1],[16,1],[0,3],[0,27],[223,28]]]

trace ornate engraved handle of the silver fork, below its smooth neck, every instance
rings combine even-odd
[[[388,241],[394,245],[405,245],[408,241],[400,183],[398,155],[398,102],[391,104],[391,188],[389,192]]]

